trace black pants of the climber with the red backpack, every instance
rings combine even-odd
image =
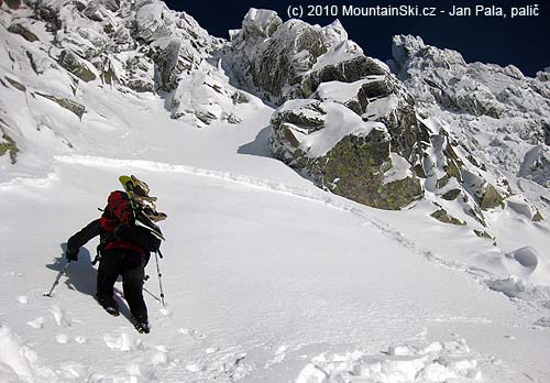
[[[122,289],[130,311],[135,320],[146,321],[147,306],[143,300],[145,277],[143,255],[124,249],[110,249],[102,252],[98,270],[97,298],[103,306],[113,304],[113,288],[119,275],[122,275]]]

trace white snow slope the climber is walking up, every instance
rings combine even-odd
[[[0,34],[18,64],[2,56],[2,70],[28,89],[0,86],[2,127],[21,150],[15,165],[0,163],[0,382],[550,381],[550,228],[520,198],[486,214],[496,247],[429,217],[429,200],[367,208],[271,158],[273,109],[251,95],[231,106],[241,123],[200,130],[151,92],[89,83],[73,95],[47,59],[34,75],[23,47],[40,50]],[[178,108],[194,95],[208,100],[204,90],[178,89]],[[87,112],[79,119],[34,91],[75,97]],[[372,129],[328,108],[328,136],[310,134],[311,150]],[[408,174],[393,161],[399,172],[386,176]],[[97,241],[43,296],[66,240],[99,216],[121,174],[146,180],[168,214],[166,306],[152,260],[148,335],[133,329],[120,282],[120,317],[95,302]]]

